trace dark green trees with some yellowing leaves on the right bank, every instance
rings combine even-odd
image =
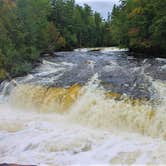
[[[166,0],[121,0],[113,8],[110,28],[116,45],[153,56],[164,54]]]

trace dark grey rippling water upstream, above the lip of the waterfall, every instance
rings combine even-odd
[[[156,89],[152,80],[166,80],[166,60],[127,55],[126,52],[56,52],[55,57],[45,57],[44,63],[29,76],[16,81],[66,88],[74,84],[83,86],[97,73],[106,91],[134,98],[154,98]]]

